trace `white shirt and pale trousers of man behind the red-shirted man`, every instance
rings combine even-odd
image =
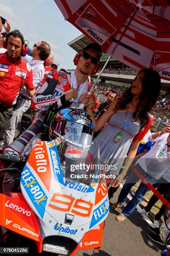
[[[29,55],[22,57],[22,59],[26,61],[30,67],[32,67],[33,85],[34,88],[36,88],[44,77],[44,61],[33,60],[33,58]],[[23,87],[18,106],[15,110],[13,110],[13,116],[10,118],[10,122],[6,128],[5,136],[2,142],[4,147],[13,142],[18,122],[22,118],[23,113],[25,113],[30,108],[30,105],[31,97],[28,95],[26,88]]]

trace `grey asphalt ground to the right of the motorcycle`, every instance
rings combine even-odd
[[[119,193],[120,188],[111,202],[117,202]],[[127,199],[126,202],[129,202],[129,200]],[[160,256],[160,252],[165,249],[165,246],[154,243],[147,237],[146,234],[150,230],[148,230],[148,223],[142,215],[134,210],[128,218],[118,222],[115,217],[120,212],[122,212],[121,208],[117,210],[110,209],[105,220],[102,247],[95,250],[93,256]],[[92,249],[80,250],[76,253],[76,256],[90,256],[92,252]]]

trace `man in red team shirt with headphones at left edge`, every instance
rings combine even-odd
[[[35,93],[32,69],[21,58],[27,51],[23,35],[18,30],[11,31],[2,44],[7,51],[0,54],[0,138],[13,115],[20,88],[25,85],[29,97]]]

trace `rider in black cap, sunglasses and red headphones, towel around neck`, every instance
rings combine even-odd
[[[42,85],[45,87],[43,89],[40,88],[39,92],[42,90],[42,94],[37,93],[32,100],[35,105],[35,109],[39,113],[37,117],[33,120],[30,127],[15,141],[13,141],[9,146],[3,149],[4,154],[9,154],[9,151],[13,151],[15,155],[19,155],[23,152],[26,144],[30,141],[30,139],[40,133],[40,127],[42,125],[42,121],[44,118],[43,112],[47,110],[48,106],[54,103],[57,100],[57,104],[59,107],[67,108],[69,106],[79,107],[80,105],[80,97],[82,93],[88,92],[89,80],[88,76],[90,74],[95,74],[99,68],[99,60],[102,55],[102,50],[99,44],[89,44],[85,47],[85,49],[81,49],[74,58],[74,64],[77,66],[75,71],[71,73],[71,90],[73,92],[67,93],[63,95],[60,100],[59,97],[55,94],[56,88],[52,85],[52,80],[47,79],[47,82]],[[49,77],[50,78],[50,77]],[[65,79],[67,76],[65,76]],[[56,80],[57,77],[54,79]],[[51,92],[48,88],[52,88]],[[46,89],[47,88],[47,89]],[[47,94],[45,94],[47,92]],[[94,108],[95,100],[92,95],[89,96],[88,106]],[[46,101],[45,101],[46,100]]]

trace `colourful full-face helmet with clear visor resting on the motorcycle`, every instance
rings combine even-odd
[[[90,115],[80,108],[60,110],[51,121],[50,138],[60,138],[74,146],[89,148],[93,135]]]

